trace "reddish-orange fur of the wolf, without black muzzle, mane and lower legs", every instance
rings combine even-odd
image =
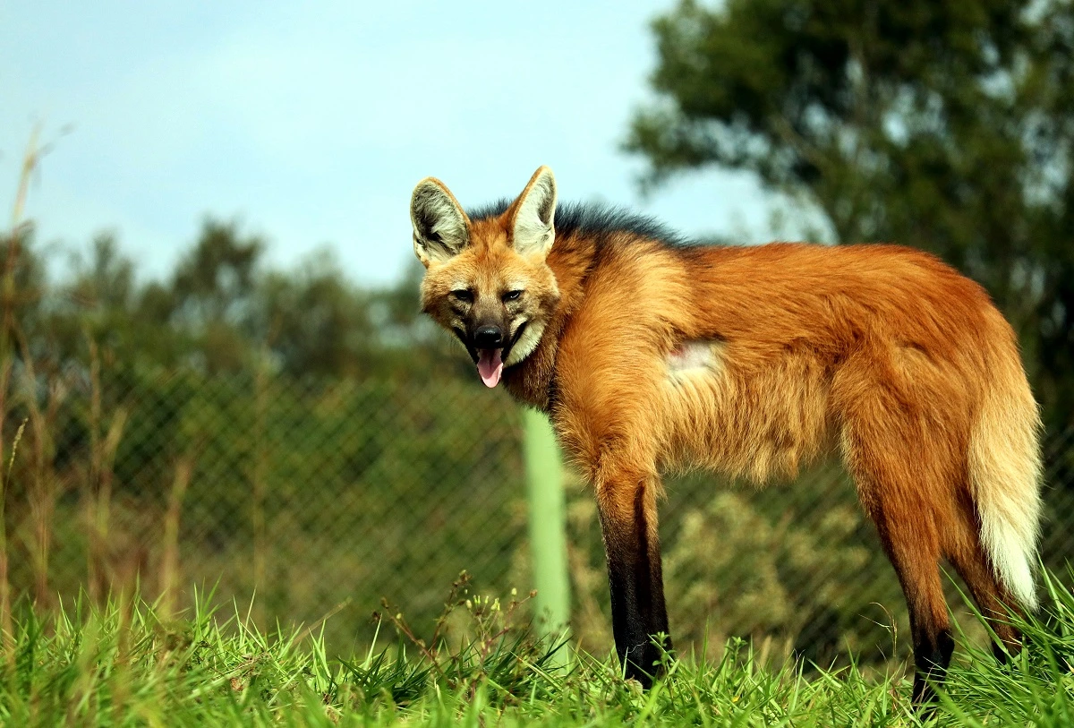
[[[532,281],[547,327],[504,382],[549,413],[593,484],[609,555],[647,544],[649,566],[630,567],[638,583],[651,576],[658,587],[662,471],[703,466],[760,483],[834,453],[906,593],[915,651],[917,637],[925,653],[945,650],[942,557],[986,613],[1017,607],[982,543],[971,441],[1006,447],[975,429],[988,416],[1035,446],[1036,411],[1014,333],[979,286],[891,245],[674,248],[623,232],[599,250],[592,235],[557,237],[546,260],[525,260],[511,248],[519,201],[467,220],[469,244],[430,267],[424,306],[442,322],[451,276]],[[669,375],[684,341],[712,341],[713,367]],[[1030,445],[997,457],[1020,457],[1012,467],[1029,472]],[[1035,519],[1030,484],[988,487],[1008,487],[996,497]]]

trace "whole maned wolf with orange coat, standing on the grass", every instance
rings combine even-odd
[[[1035,606],[1037,406],[1011,326],[940,260],[889,245],[690,245],[620,210],[557,212],[548,168],[513,202],[469,214],[423,179],[410,218],[423,310],[488,387],[549,414],[593,485],[628,676],[651,683],[651,638],[668,632],[656,527],[668,466],[760,483],[838,453],[906,597],[915,701],[954,646],[942,557],[984,614]],[[1002,618],[992,627],[1018,649]]]

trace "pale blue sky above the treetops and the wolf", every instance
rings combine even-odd
[[[160,277],[212,215],[264,235],[272,265],[328,247],[383,285],[411,264],[419,179],[476,206],[541,164],[561,200],[760,242],[777,202],[752,175],[690,173],[643,199],[643,160],[620,149],[653,98],[649,21],[670,6],[0,0],[0,204],[41,123],[28,215],[55,265],[114,231]]]

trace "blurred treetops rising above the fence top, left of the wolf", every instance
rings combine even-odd
[[[19,322],[54,366],[87,361],[92,341],[105,363],[128,368],[264,367],[393,381],[469,370],[445,355],[447,337],[420,316],[417,262],[397,285],[371,290],[351,282],[326,250],[295,270],[272,270],[261,237],[207,219],[162,280],[142,280],[116,238],[100,235],[72,257],[68,278],[49,281],[32,229],[19,242]]]

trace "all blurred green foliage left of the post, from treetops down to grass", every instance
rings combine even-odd
[[[417,271],[367,289],[328,252],[272,270],[261,238],[209,219],[160,280],[110,235],[50,279],[32,233],[0,246],[18,253],[0,395],[4,462],[26,425],[4,513],[16,593],[55,605],[132,573],[162,588],[184,463],[187,597],[258,593],[285,621],[352,600],[344,638],[382,596],[431,615],[462,569],[509,568],[524,528],[488,524],[517,515],[518,411],[420,317]]]

